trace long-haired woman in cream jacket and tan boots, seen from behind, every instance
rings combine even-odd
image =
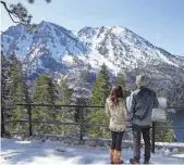
[[[111,130],[112,142],[109,149],[111,164],[122,164],[121,144],[126,127],[125,98],[121,86],[113,86],[110,97],[106,101],[106,113],[110,117],[109,128]]]

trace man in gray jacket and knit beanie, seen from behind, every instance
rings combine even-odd
[[[131,105],[128,112],[130,126],[132,126],[134,140],[134,158],[130,160],[131,164],[138,164],[140,158],[140,138],[145,142],[145,164],[150,158],[150,124],[152,109],[157,109],[159,103],[156,93],[146,87],[147,78],[139,75],[136,78],[138,89],[131,94]]]

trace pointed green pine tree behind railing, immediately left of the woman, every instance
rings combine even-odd
[[[91,104],[105,105],[106,99],[110,92],[109,73],[107,66],[103,64],[99,72],[91,90]],[[105,109],[93,109],[87,114],[88,122],[91,124],[108,124],[109,118],[105,113]],[[90,137],[109,137],[109,131],[105,127],[93,126],[88,129]]]

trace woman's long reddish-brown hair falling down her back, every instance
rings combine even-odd
[[[110,100],[112,102],[112,106],[116,106],[119,104],[119,98],[123,98],[123,89],[121,86],[113,86],[110,92]]]

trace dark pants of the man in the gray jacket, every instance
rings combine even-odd
[[[145,161],[150,158],[150,126],[137,126],[133,125],[133,139],[134,139],[134,160],[140,158],[140,139],[143,134],[143,139],[145,142]]]

